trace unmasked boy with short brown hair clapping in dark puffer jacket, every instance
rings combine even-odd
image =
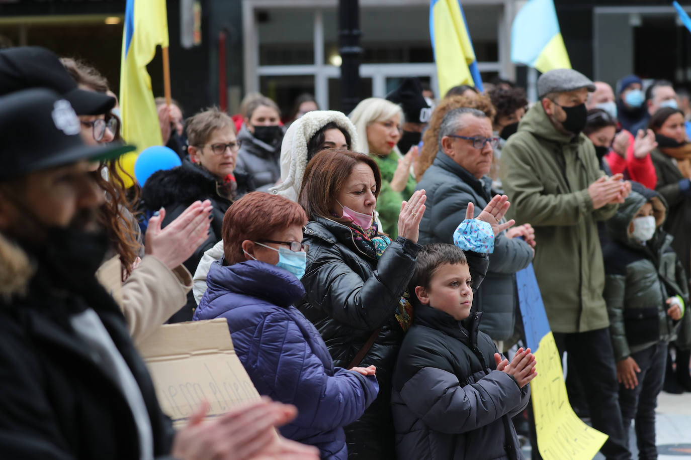
[[[536,376],[530,349],[513,361],[478,330],[465,254],[424,246],[410,281],[415,322],[393,375],[399,459],[522,459],[511,417],[528,404]]]

